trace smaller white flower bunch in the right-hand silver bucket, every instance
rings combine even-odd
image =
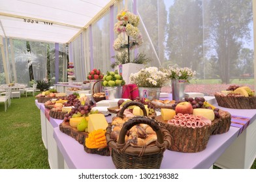
[[[170,79],[184,79],[189,83],[189,79],[196,75],[195,71],[192,71],[190,68],[171,68],[165,70]]]

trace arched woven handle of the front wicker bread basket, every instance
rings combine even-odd
[[[159,123],[155,122],[152,118],[146,118],[145,116],[136,116],[134,118],[129,119],[127,122],[123,124],[123,127],[121,128],[120,135],[118,138],[118,144],[124,144],[125,143],[125,135],[131,127],[134,125],[144,123],[147,125],[150,125],[152,127],[153,131],[157,134],[157,142],[159,144],[163,144],[163,132],[161,131]]]

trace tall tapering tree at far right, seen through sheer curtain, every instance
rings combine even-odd
[[[251,0],[206,0],[205,29],[209,33],[210,52],[216,53],[216,64],[222,83],[229,83],[236,68],[243,42],[249,40],[249,23],[252,21]],[[206,16],[206,17],[207,17]]]

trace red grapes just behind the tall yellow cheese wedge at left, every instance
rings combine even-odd
[[[68,122],[74,114],[76,116],[88,116],[89,112],[91,111],[91,105],[88,105],[88,103],[85,103],[85,105],[74,105],[74,107],[71,109],[71,111],[67,114],[65,114],[64,122]]]

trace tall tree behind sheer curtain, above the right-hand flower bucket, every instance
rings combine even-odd
[[[203,58],[202,1],[174,1],[168,19],[168,60],[172,66],[198,70]]]

